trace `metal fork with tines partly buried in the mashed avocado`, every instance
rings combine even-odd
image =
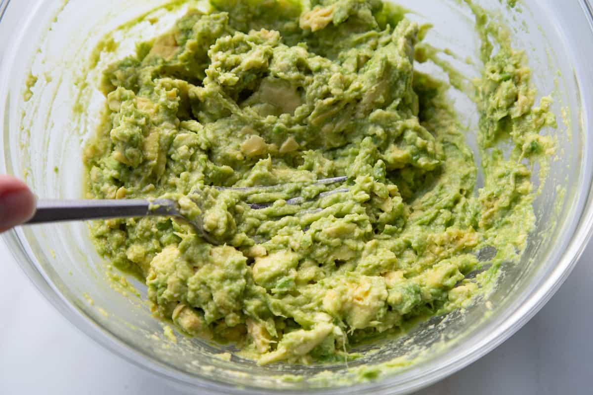
[[[331,185],[339,182],[345,182],[348,178],[334,177],[324,178],[303,185]],[[256,191],[282,188],[282,185],[270,185],[269,187],[214,187],[218,190],[234,191]],[[322,198],[331,194],[347,192],[346,188],[322,192],[317,198]],[[286,200],[286,204],[298,205],[305,203],[305,198],[294,197]],[[269,203],[251,203],[254,210],[270,207],[274,202]],[[40,199],[37,201],[37,211],[33,218],[26,224],[39,224],[61,221],[78,220],[97,220],[111,218],[129,218],[129,217],[173,217],[181,219],[192,225],[196,232],[207,242],[213,245],[220,245],[221,241],[216,240],[206,232],[203,227],[202,218],[196,220],[189,219],[181,214],[176,201],[168,199],[104,199],[104,200],[52,200]]]

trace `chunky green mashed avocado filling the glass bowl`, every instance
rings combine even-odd
[[[95,223],[98,251],[146,281],[158,317],[260,364],[355,358],[359,342],[466,306],[480,250],[494,270],[524,249],[533,165],[553,152],[540,131],[555,126],[524,54],[471,7],[482,188],[449,85],[415,71],[423,33],[400,8],[216,0],[104,71],[85,163],[90,197],[174,198],[221,245],[160,217]],[[335,176],[347,181],[313,184]]]

